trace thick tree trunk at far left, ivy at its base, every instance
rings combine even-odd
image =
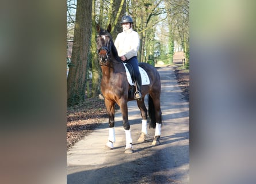
[[[91,0],[77,0],[74,43],[67,76],[67,106],[85,99],[86,67],[91,43]]]

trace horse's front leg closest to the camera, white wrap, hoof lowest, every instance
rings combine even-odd
[[[127,100],[121,99],[119,101],[119,106],[121,109],[121,113],[123,116],[123,127],[125,131],[125,140],[126,140],[126,146],[125,146],[125,154],[132,154],[133,153],[133,147],[132,147],[132,136],[131,136],[131,128],[128,121],[128,107],[127,107]]]

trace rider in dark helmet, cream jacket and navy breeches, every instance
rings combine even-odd
[[[137,60],[137,51],[140,45],[139,34],[132,29],[132,17],[123,16],[120,23],[123,26],[123,32],[117,34],[114,45],[116,46],[120,59],[132,65],[137,85],[134,98],[142,99],[142,78]]]

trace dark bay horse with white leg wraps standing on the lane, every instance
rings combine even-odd
[[[102,71],[101,93],[104,96],[105,106],[108,113],[109,136],[105,144],[106,150],[113,150],[116,141],[114,132],[114,106],[120,107],[123,116],[123,127],[125,131],[125,153],[133,152],[131,129],[128,121],[127,102],[135,100],[131,93],[134,87],[128,83],[127,74],[123,62],[118,56],[117,49],[114,46],[112,36],[110,34],[112,26],[108,25],[107,29],[101,29],[100,25],[96,25],[97,30],[97,54],[98,62]],[[152,145],[160,144],[161,136],[162,112],[161,112],[161,78],[155,67],[147,63],[139,63],[148,74],[150,79],[149,85],[142,85],[142,99],[137,99],[137,106],[142,116],[142,133],[138,139],[140,143],[146,140],[147,127],[155,128],[155,135]],[[132,92],[131,92],[132,91]],[[144,104],[145,95],[148,94],[148,112]]]

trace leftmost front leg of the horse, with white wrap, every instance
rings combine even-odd
[[[116,141],[114,132],[114,102],[108,101],[108,99],[105,98],[105,106],[109,117],[109,137],[105,149],[112,150],[114,148],[114,142]]]

